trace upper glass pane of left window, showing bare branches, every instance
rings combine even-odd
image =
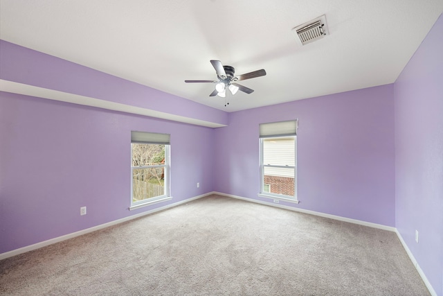
[[[132,166],[154,166],[165,163],[165,145],[131,143]]]

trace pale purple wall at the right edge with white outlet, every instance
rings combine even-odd
[[[443,295],[443,16],[395,82],[395,225]],[[415,243],[415,230],[419,243]]]

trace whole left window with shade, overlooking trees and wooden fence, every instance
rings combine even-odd
[[[170,200],[170,135],[131,132],[131,207]]]

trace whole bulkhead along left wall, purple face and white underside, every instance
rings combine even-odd
[[[89,105],[210,128],[228,113],[82,64],[0,40],[4,92]]]

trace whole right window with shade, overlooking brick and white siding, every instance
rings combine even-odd
[[[260,124],[260,193],[297,201],[297,121]]]

